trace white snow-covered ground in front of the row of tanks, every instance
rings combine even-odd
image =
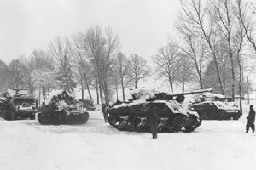
[[[79,126],[0,120],[0,169],[256,169],[256,135],[239,121],[204,121],[193,133],[120,132],[100,111]]]

